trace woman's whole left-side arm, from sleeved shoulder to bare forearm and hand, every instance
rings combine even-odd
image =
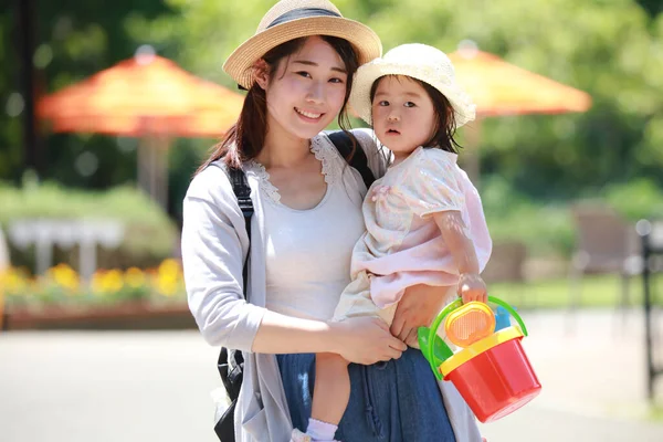
[[[218,194],[210,194],[212,188]],[[209,344],[266,354],[332,351],[361,364],[391,359],[404,349],[376,320],[328,325],[246,303],[242,296],[242,263],[249,245],[244,219],[222,170],[209,168],[193,180],[183,218],[189,306]]]

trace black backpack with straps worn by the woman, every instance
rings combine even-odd
[[[368,159],[364,149],[358,145],[355,149],[355,154],[348,159],[352,152],[352,140],[343,130],[327,133],[327,136],[336,146],[336,149],[348,160],[348,164],[357,169],[361,173],[361,179],[366,183],[368,189],[375,181],[375,177],[368,167]],[[246,181],[246,176],[242,169],[230,168],[227,170],[228,178],[232,185],[232,190],[238,199],[240,210],[244,215],[244,222],[246,224],[246,234],[249,235],[249,253],[246,254],[246,261],[242,269],[242,280],[244,287],[244,299],[246,297],[246,285],[249,281],[249,257],[251,256],[251,217],[253,215],[253,202],[251,201],[251,188]],[[219,360],[217,361],[219,375],[221,381],[225,388],[225,392],[231,400],[230,406],[225,412],[221,415],[221,419],[214,425],[214,432],[221,442],[234,442],[234,410],[238,403],[238,397],[240,396],[240,389],[242,387],[242,378],[244,371],[244,357],[242,351],[221,348],[219,354]]]

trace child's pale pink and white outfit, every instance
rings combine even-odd
[[[362,206],[366,232],[352,251],[352,282],[336,320],[380,316],[390,324],[404,290],[415,284],[455,292],[459,271],[432,213],[461,212],[484,270],[492,241],[478,192],[456,158],[419,147],[370,187]]]

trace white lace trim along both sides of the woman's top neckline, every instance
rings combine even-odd
[[[311,151],[323,165],[323,175],[325,176],[327,186],[334,185],[340,176],[340,158],[338,158],[336,149],[332,146],[332,141],[322,136],[315,137],[311,140]],[[270,172],[267,172],[265,167],[255,160],[249,160],[246,165],[249,166],[246,168],[248,171],[253,172],[257,177],[260,188],[269,199],[274,202],[281,202],[278,189],[272,185]]]

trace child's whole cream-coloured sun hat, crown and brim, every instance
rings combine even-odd
[[[368,124],[371,123],[370,90],[385,75],[407,75],[440,91],[453,106],[456,127],[472,122],[476,106],[455,81],[455,71],[446,54],[427,44],[402,44],[359,67],[355,75],[351,108]]]

